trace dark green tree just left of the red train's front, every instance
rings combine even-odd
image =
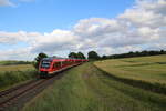
[[[34,68],[35,69],[39,69],[39,64],[40,64],[40,61],[43,59],[43,58],[46,58],[48,56],[43,52],[39,53],[38,57],[34,59]]]

